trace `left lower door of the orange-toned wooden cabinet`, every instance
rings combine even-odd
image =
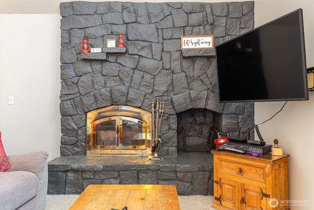
[[[218,198],[221,205],[230,209],[238,209],[238,194],[240,183],[232,180],[220,179]]]

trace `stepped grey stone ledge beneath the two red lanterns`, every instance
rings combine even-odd
[[[125,47],[103,47],[102,53],[82,53],[81,59],[88,61],[106,61],[107,54],[119,54],[126,52],[127,48]]]

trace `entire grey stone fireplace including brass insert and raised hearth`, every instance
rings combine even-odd
[[[182,130],[195,145],[211,141],[210,128],[232,134],[250,128],[253,137],[254,125],[243,104],[218,103],[215,50],[181,49],[181,36],[213,34],[218,45],[252,30],[254,1],[73,1],[60,3],[60,15],[61,156],[48,163],[48,193],[80,194],[89,184],[174,184],[179,195],[212,195],[212,155],[178,152]],[[107,48],[106,40],[118,40],[119,33],[126,47]],[[85,35],[102,53],[81,53]],[[120,155],[150,145],[151,126],[116,111],[151,113],[157,99],[165,103],[157,152],[163,159]],[[246,106],[253,115],[254,103]],[[86,156],[88,148],[114,152]]]

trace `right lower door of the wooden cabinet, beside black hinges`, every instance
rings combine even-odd
[[[265,192],[265,189],[248,184],[242,184],[241,191],[242,197],[240,198],[240,209],[266,210],[266,198],[262,197],[262,191]]]

